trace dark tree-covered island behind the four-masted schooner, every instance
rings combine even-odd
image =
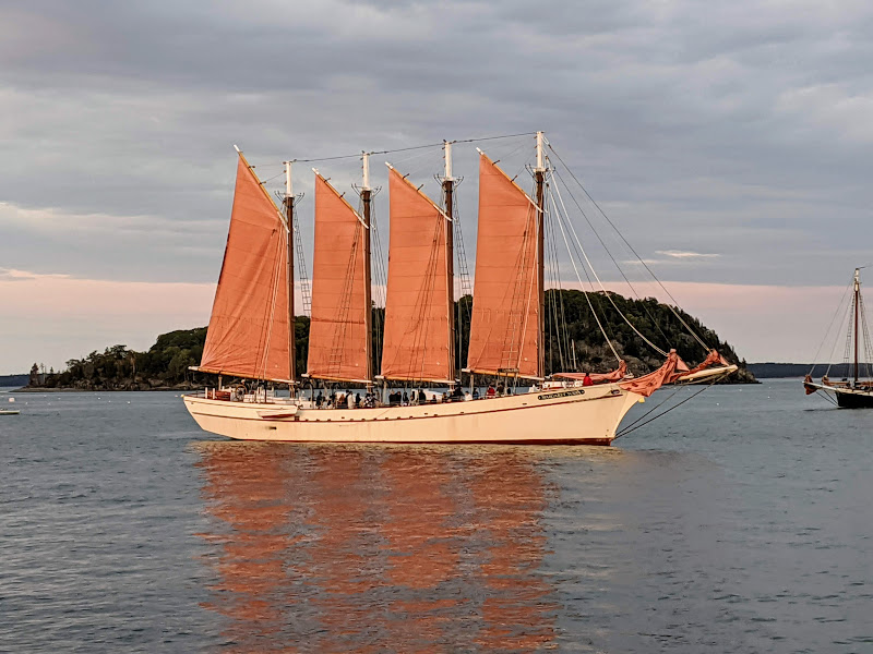
[[[612,302],[610,302],[610,298]],[[663,363],[658,354],[615,311],[618,307],[636,328],[662,350],[675,348],[689,364],[701,362],[707,352],[689,335],[677,315],[666,304],[651,298],[629,300],[611,293],[590,293],[603,328],[619,355],[631,372],[639,375]],[[456,304],[455,329],[458,367],[465,367],[471,315],[469,295]],[[613,306],[614,303],[614,306]],[[737,362],[737,353],[721,341],[710,329],[681,310],[677,314],[710,347],[725,358]],[[382,325],[385,311],[373,307],[373,370],[378,373],[381,361]],[[560,327],[560,329],[557,329]],[[43,386],[48,388],[82,389],[147,389],[168,387],[194,387],[207,382],[207,376],[190,371],[198,365],[206,341],[206,328],[179,329],[162,334],[147,352],[134,352],[125,346],[112,346],[104,352],[92,352],[81,360],[67,362],[67,370],[45,376]],[[307,370],[309,350],[309,318],[298,316],[295,324],[296,366],[298,377]],[[546,293],[546,373],[589,371],[608,372],[617,366],[615,358],[603,340],[600,328],[588,306],[588,300],[579,291],[550,290]],[[574,365],[575,352],[575,365]],[[740,362],[739,380],[754,380]]]

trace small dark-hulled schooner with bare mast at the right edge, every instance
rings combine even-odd
[[[863,367],[866,368],[866,376],[861,376],[861,347],[863,346],[863,353],[868,355],[868,361],[870,359],[870,353],[873,352],[866,326],[864,300],[861,295],[861,268],[854,269],[851,289],[852,293],[849,308],[848,312],[844,314],[848,318],[848,326],[846,339],[844,341],[846,343],[846,350],[842,362],[845,368],[850,367],[851,370],[851,380],[849,379],[848,370],[846,371],[846,376],[840,380],[832,380],[828,377],[832,366],[828,365],[825,374],[822,376],[821,384],[816,384],[813,382],[813,373],[815,372],[815,364],[813,364],[810,373],[803,378],[803,388],[806,395],[812,395],[820,390],[824,391],[827,399],[834,401],[837,407],[842,409],[873,409],[873,378],[871,378],[870,375],[869,362],[863,364]],[[834,317],[836,318],[836,316],[841,313],[844,312],[838,311]],[[815,359],[817,358],[818,354],[816,353]]]

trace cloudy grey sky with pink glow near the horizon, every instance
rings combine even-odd
[[[7,0],[0,374],[205,325],[234,144],[278,189],[286,159],[536,130],[740,356],[811,361],[873,262],[872,31],[840,1]],[[470,268],[476,145],[514,166],[533,137],[456,146]],[[440,157],[375,183],[390,158],[430,189]],[[359,167],[296,165],[304,242],[313,165],[347,192]]]

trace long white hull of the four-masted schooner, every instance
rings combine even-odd
[[[379,409],[314,409],[184,396],[206,432],[296,443],[529,443],[609,445],[643,398],[617,384],[466,402]],[[286,400],[287,402],[287,400]]]

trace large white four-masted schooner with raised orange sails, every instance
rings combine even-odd
[[[443,144],[440,204],[387,165],[390,242],[379,358],[372,352],[369,155],[361,155],[358,209],[313,169],[314,257],[302,378],[295,373],[292,162],[285,164],[279,209],[238,149],[224,263],[203,358],[193,368],[218,375],[218,384],[184,396],[198,424],[255,440],[609,445],[627,411],[665,384],[736,371],[715,350],[693,368],[675,350],[661,350],[663,364],[639,377],[620,361],[607,374],[571,371],[547,378],[543,233],[557,202],[547,205],[552,165],[542,132],[535,137],[531,194],[477,148],[478,234],[465,367],[456,362],[454,320],[455,142]],[[468,393],[461,386],[464,375]],[[503,383],[474,399],[477,376]],[[251,382],[225,385],[228,377]],[[321,392],[313,397],[315,384],[363,386],[364,400],[340,393],[325,407]],[[276,385],[288,385],[288,397],[277,396]],[[449,392],[427,399],[421,389],[436,386]],[[398,387],[412,390],[411,399],[390,401]]]

